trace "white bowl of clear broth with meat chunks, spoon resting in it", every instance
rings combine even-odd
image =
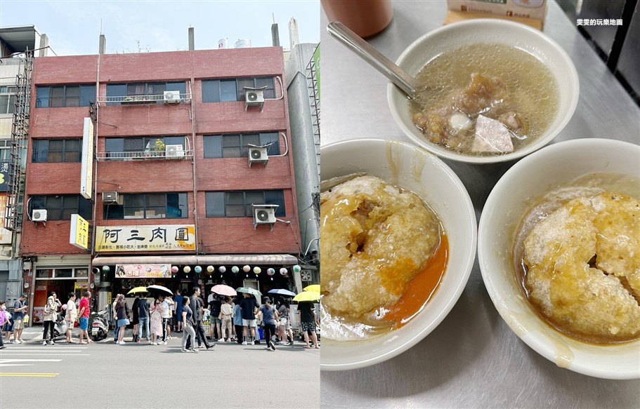
[[[417,145],[446,159],[495,163],[547,145],[573,116],[573,62],[548,36],[495,19],[440,27],[396,62],[421,88],[389,84],[393,119]]]

